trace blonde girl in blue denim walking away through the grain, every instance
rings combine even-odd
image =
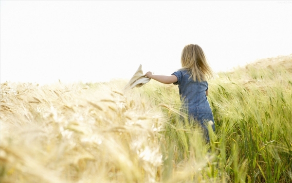
[[[208,65],[204,51],[199,45],[186,45],[182,51],[182,68],[170,76],[154,75],[147,72],[145,77],[164,84],[178,84],[181,101],[188,111],[189,119],[198,121],[206,141],[209,142],[208,123],[211,120],[215,131],[214,117],[207,100],[208,83],[206,79],[214,77],[214,72]]]

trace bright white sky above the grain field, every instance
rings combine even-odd
[[[292,53],[292,1],[0,0],[0,82],[170,75],[187,44],[215,71]]]

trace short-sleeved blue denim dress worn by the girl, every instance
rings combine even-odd
[[[215,132],[213,113],[206,96],[208,83],[206,81],[195,82],[187,70],[178,70],[171,75],[175,75],[178,81],[174,84],[179,85],[181,101],[188,111],[189,120],[194,119],[201,125],[206,141],[209,142],[208,122],[213,121],[212,129]]]

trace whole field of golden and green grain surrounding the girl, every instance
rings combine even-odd
[[[127,83],[1,83],[0,182],[292,182],[292,54],[208,81],[209,144],[177,85]]]

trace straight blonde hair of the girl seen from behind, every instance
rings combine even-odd
[[[214,71],[209,66],[205,53],[199,45],[189,44],[183,48],[181,58],[183,70],[188,70],[194,81],[206,81],[214,78]]]

